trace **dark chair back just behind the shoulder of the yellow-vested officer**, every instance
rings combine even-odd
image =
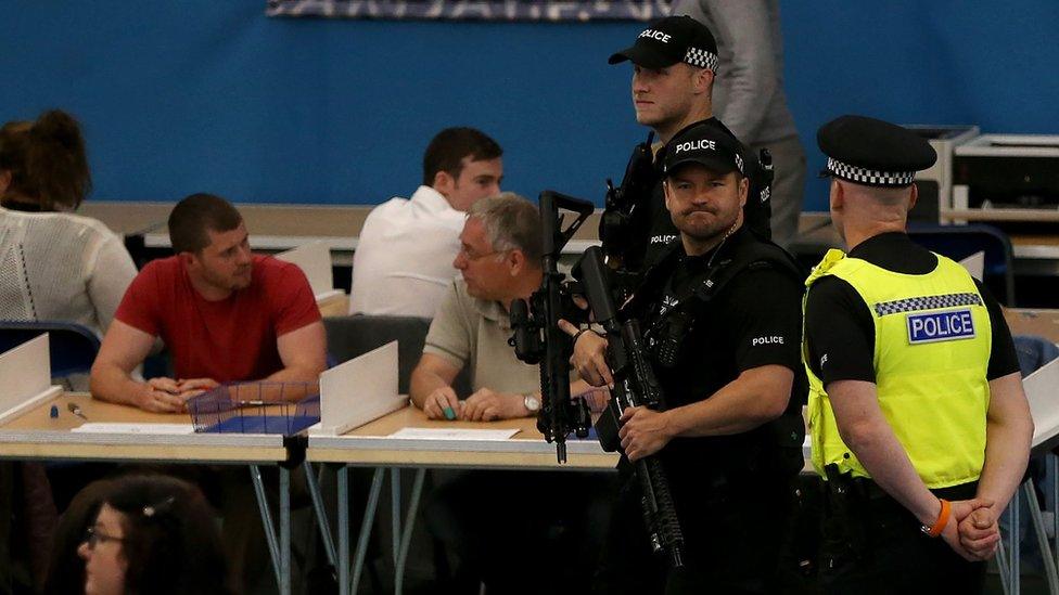
[[[1015,253],[1011,240],[993,225],[931,225],[908,224],[908,236],[924,248],[962,260],[975,253],[985,253],[983,281],[1007,307],[1015,306]]]

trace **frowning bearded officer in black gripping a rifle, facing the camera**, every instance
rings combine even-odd
[[[639,484],[629,480],[597,574],[600,593],[776,591],[790,480],[803,465],[791,400],[804,391],[802,284],[787,254],[744,224],[745,168],[738,144],[710,124],[665,148],[665,207],[679,241],[623,315],[641,323],[667,409],[626,409],[620,436],[628,461],[659,453],[685,565],[652,558]],[[595,370],[577,354],[574,363]]]

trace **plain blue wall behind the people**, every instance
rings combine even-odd
[[[605,64],[635,23],[267,18],[264,0],[0,8],[0,119],[77,115],[97,199],[378,203],[414,189],[434,132],[470,125],[507,150],[507,189],[599,202],[645,134],[628,67]],[[782,8],[811,170],[816,128],[844,113],[1059,133],[1059,2]],[[806,207],[825,192],[811,179]]]

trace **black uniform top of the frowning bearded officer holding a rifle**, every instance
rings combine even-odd
[[[741,228],[718,248],[702,256],[687,256],[679,242],[672,246],[645,280],[641,295],[634,297],[636,303],[649,305],[641,316],[649,344],[658,344],[656,329],[663,311],[672,312],[669,305],[702,283],[711,259],[714,263],[723,261],[756,242],[751,232]],[[791,370],[795,378],[792,393],[804,394],[807,388],[799,345],[801,305],[799,280],[770,264],[743,270],[707,305],[696,303],[694,320],[680,342],[675,365],[653,365],[666,406],[674,409],[705,400],[740,373],[770,364]],[[792,399],[788,411],[800,414],[801,402],[802,399]],[[784,480],[776,473],[776,467],[782,465],[778,441],[766,426],[731,436],[673,439],[663,449],[662,458],[674,492],[681,487],[696,489],[718,478],[766,483]],[[679,499],[677,507],[682,508]]]

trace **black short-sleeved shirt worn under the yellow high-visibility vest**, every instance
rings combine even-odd
[[[930,250],[901,232],[870,237],[850,250],[849,257],[904,274],[927,274],[937,266]],[[994,380],[1018,372],[1019,360],[999,305],[984,285],[974,283],[993,327],[986,376]],[[815,282],[805,305],[805,332],[809,367],[825,387],[835,380],[876,381],[875,324],[868,305],[852,285],[835,276]]]

